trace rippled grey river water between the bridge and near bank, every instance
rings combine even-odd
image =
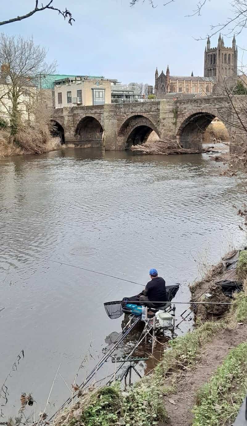
[[[92,337],[81,383],[121,331],[103,302],[141,290],[50,260],[143,284],[154,267],[167,284],[181,282],[176,300],[188,301],[197,259],[218,262],[243,239],[232,207],[241,206],[243,186],[219,169],[207,154],[78,148],[0,160],[0,386],[24,350],[6,381],[6,417],[17,414],[22,391],[44,409],[59,363],[70,386]],[[185,308],[178,305],[178,319]],[[50,401],[58,408],[68,395],[58,375]]]

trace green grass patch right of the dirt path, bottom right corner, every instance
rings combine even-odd
[[[229,352],[209,382],[198,391],[192,426],[231,424],[246,396],[247,343]]]

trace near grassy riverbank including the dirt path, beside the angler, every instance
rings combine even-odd
[[[244,259],[247,262],[246,253]],[[237,274],[243,272],[243,265],[241,259]],[[220,263],[194,284],[194,300],[212,291],[225,272],[224,262]],[[198,292],[203,293],[199,298]],[[153,374],[128,391],[121,391],[118,384],[92,387],[73,407],[58,414],[53,424],[180,426],[183,419],[183,426],[230,425],[246,394],[246,333],[245,280],[224,314],[217,318],[211,314],[211,320],[205,320],[199,312],[195,329],[169,342]]]

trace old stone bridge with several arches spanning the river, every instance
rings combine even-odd
[[[232,111],[227,97],[205,96],[61,108],[55,109],[52,120],[65,143],[84,147],[125,150],[144,143],[154,131],[160,139],[177,139],[184,148],[198,149],[215,117],[224,122],[230,141],[237,141]]]

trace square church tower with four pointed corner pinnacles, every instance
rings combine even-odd
[[[221,81],[223,77],[235,77],[237,75],[238,47],[235,35],[232,39],[232,47],[226,47],[221,34],[218,38],[218,46],[210,47],[208,37],[204,52],[204,77],[214,77]]]

